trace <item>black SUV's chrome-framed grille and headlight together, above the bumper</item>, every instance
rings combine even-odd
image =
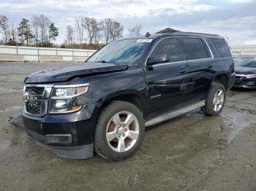
[[[48,112],[78,111],[77,97],[89,91],[89,84],[80,85],[25,85],[23,89],[26,114],[42,117]]]

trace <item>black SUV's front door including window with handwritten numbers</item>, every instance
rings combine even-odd
[[[187,63],[183,61],[177,38],[161,39],[154,47],[148,60],[156,55],[167,54],[170,61],[146,66],[148,104],[151,115],[175,109],[183,102],[182,85],[187,73]]]

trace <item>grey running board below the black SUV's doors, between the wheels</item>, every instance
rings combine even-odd
[[[173,112],[165,113],[165,114],[162,114],[162,115],[160,115],[158,117],[155,117],[151,120],[148,120],[148,121],[145,122],[145,126],[148,127],[148,126],[151,126],[151,125],[155,125],[159,122],[163,122],[165,120],[170,120],[174,117],[178,117],[181,114],[186,114],[187,112],[191,112],[192,110],[197,109],[201,106],[205,106],[205,105],[206,105],[206,100],[199,101],[196,104],[192,104],[190,106],[186,106],[186,107],[183,107],[181,109],[177,109]]]

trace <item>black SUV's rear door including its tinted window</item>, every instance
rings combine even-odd
[[[187,94],[184,100],[194,104],[206,98],[214,75],[214,58],[205,39],[200,37],[181,37],[181,51],[187,62]]]

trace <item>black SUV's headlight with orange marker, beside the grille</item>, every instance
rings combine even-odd
[[[50,113],[69,113],[78,111],[76,97],[87,93],[89,84],[82,85],[55,85],[50,98]]]

